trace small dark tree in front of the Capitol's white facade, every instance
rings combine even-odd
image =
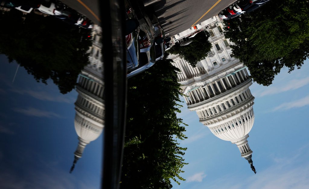
[[[196,67],[198,61],[203,60],[207,53],[210,51],[212,44],[208,41],[210,34],[208,31],[201,31],[193,37],[193,42],[180,46],[180,43],[176,43],[169,52],[172,54],[179,54],[181,58],[184,58],[192,67]]]

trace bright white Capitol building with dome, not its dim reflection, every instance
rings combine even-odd
[[[233,57],[232,43],[224,38],[221,21],[214,17],[208,22],[203,29],[210,33],[212,49],[204,60],[193,68],[179,55],[169,58],[180,69],[178,81],[188,109],[196,111],[199,121],[216,137],[236,144],[256,173],[248,144],[254,122],[254,97],[249,89],[252,79],[243,63]],[[181,39],[174,37],[179,42]]]

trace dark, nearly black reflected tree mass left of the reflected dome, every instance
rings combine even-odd
[[[61,93],[74,89],[78,74],[89,63],[88,30],[37,14],[12,9],[0,12],[0,53],[15,60],[38,82],[51,78]]]

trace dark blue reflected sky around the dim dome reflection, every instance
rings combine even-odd
[[[0,188],[99,188],[102,136],[91,142],[69,174],[78,144],[77,92],[66,95],[52,81],[37,83],[0,55]]]

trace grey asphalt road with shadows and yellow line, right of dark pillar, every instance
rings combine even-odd
[[[236,0],[143,1],[146,7],[150,7],[152,10],[155,10],[159,21],[163,26],[164,32],[166,34],[168,33],[168,36],[172,36],[190,28],[192,25],[197,25],[202,21],[217,15],[222,9],[225,9]],[[147,4],[150,5],[147,6]],[[206,12],[208,13],[205,14]],[[204,14],[205,16],[202,17]]]

